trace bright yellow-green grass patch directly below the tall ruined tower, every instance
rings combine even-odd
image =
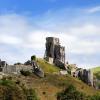
[[[43,59],[38,59],[37,62],[45,73],[54,73],[54,72],[60,71],[60,69],[58,67],[49,64],[47,61],[45,61]]]

